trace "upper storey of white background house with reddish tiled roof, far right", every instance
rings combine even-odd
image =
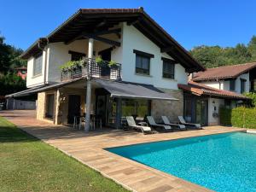
[[[193,81],[219,90],[243,93],[256,90],[256,62],[209,68],[195,73]]]

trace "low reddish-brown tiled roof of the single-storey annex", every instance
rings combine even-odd
[[[188,84],[178,84],[177,87],[181,90],[189,91],[190,93],[196,96],[218,96],[223,98],[233,98],[233,99],[241,99],[248,100],[247,96],[243,96],[240,93],[232,92],[229,90],[218,90],[212,87],[209,87],[205,84],[195,83],[193,81],[189,81]]]

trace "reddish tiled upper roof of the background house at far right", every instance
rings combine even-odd
[[[256,62],[234,66],[208,68],[205,72],[195,73],[193,81],[204,81],[211,79],[233,79],[238,77],[242,73],[247,73],[254,67],[256,67]]]

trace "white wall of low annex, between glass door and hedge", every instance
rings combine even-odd
[[[208,125],[219,125],[219,117],[213,117],[212,113],[218,113],[218,109],[221,105],[224,105],[224,99],[208,99]],[[216,110],[214,110],[214,107]]]

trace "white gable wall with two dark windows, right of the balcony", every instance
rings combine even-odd
[[[160,48],[151,40],[146,38],[134,26],[123,26],[122,35],[122,78],[124,81],[133,81],[143,84],[154,84],[156,87],[177,90],[177,84],[187,84],[187,73],[185,69],[177,64],[175,66],[175,79],[162,78],[161,57],[172,59],[169,55],[160,53]],[[133,49],[137,49],[148,54],[154,55],[150,59],[150,75],[136,74],[136,54]]]

